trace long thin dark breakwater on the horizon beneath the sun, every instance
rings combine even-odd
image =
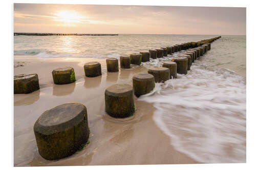
[[[118,34],[14,33],[14,36],[16,36],[16,35],[30,35],[30,36],[51,36],[51,35],[55,35],[55,36],[68,36],[68,35],[72,35],[72,36],[85,36],[85,35],[90,35],[90,36],[106,36],[106,35],[112,35],[112,36],[114,36],[114,35],[118,35]]]

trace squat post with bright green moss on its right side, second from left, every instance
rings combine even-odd
[[[69,84],[76,81],[75,71],[72,67],[61,67],[52,71],[54,84]]]

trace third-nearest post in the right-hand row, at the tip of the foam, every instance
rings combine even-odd
[[[133,76],[134,94],[139,98],[140,95],[151,92],[155,87],[155,78],[151,74],[138,73]]]

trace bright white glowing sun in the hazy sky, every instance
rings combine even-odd
[[[83,17],[75,11],[58,11],[56,14],[56,21],[66,23],[81,23]]]

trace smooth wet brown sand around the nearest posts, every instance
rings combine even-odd
[[[101,63],[102,76],[85,77],[83,64],[95,60]],[[15,67],[20,63],[23,66]],[[75,83],[53,83],[52,70],[62,66],[74,68]],[[170,145],[170,138],[153,120],[155,108],[152,104],[138,101],[134,96],[136,112],[132,117],[117,119],[105,113],[106,87],[115,83],[132,85],[132,77],[137,72],[147,72],[147,69],[134,66],[109,73],[105,59],[14,56],[14,75],[36,73],[40,85],[40,90],[30,94],[14,94],[14,166],[200,163]],[[68,102],[87,107],[90,143],[68,158],[45,160],[37,152],[34,123],[45,110]]]

